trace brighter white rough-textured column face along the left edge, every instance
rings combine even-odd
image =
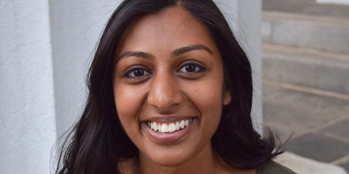
[[[49,4],[0,1],[0,173],[50,173],[56,140]]]

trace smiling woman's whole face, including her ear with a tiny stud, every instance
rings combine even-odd
[[[205,24],[178,7],[134,19],[116,58],[116,109],[140,158],[174,166],[211,151],[231,98],[222,93],[221,55]]]

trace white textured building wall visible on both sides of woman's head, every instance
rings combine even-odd
[[[251,59],[260,131],[260,0],[216,2]],[[50,173],[51,148],[82,112],[94,48],[119,3],[0,1],[1,174]]]

